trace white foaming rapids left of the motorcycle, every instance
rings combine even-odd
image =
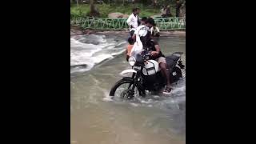
[[[107,39],[105,35],[70,38],[70,74],[90,70],[96,64],[122,54],[126,50],[125,46],[125,40]]]

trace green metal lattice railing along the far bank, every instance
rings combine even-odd
[[[186,18],[154,18],[160,30],[186,30]],[[70,24],[83,29],[128,30],[126,18],[92,18],[71,16]]]

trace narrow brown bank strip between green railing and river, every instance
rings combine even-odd
[[[82,30],[78,26],[70,26],[70,37],[74,35],[84,35],[84,34],[123,34],[127,35],[128,30]],[[181,36],[186,37],[186,31],[178,31],[178,30],[161,30],[161,37],[171,37],[171,36]]]

